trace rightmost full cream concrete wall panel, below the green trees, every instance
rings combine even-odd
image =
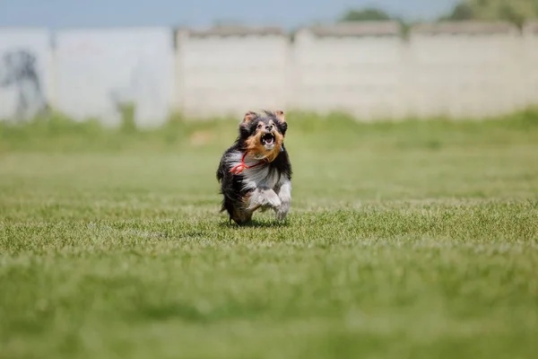
[[[521,40],[512,25],[418,25],[411,31],[410,53],[417,116],[484,117],[521,104]]]

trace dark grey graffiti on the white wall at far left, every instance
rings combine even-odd
[[[12,49],[0,53],[0,91],[14,95],[10,116],[31,118],[47,109],[41,82],[37,57],[30,50]]]

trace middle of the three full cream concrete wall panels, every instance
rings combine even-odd
[[[402,117],[404,66],[404,44],[395,22],[303,29],[293,48],[293,105],[343,110],[361,119]]]

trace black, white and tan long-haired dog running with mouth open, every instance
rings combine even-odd
[[[282,111],[247,112],[239,136],[221,157],[221,212],[230,223],[248,223],[259,208],[273,209],[282,221],[291,206],[291,162],[283,140],[288,124]]]

